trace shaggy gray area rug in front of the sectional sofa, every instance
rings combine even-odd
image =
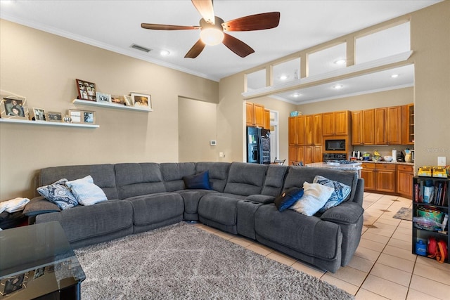
[[[82,299],[354,299],[342,289],[181,222],[75,250]]]

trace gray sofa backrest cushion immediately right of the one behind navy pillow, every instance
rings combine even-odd
[[[267,168],[266,164],[232,162],[224,192],[244,196],[260,194]]]

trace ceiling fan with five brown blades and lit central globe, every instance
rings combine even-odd
[[[186,53],[185,58],[196,58],[206,45],[224,44],[241,58],[245,58],[253,50],[248,44],[232,37],[225,32],[267,30],[278,26],[280,13],[259,13],[248,15],[228,22],[214,15],[212,0],[191,0],[197,11],[202,15],[200,26],[180,26],[142,23],[141,27],[148,30],[200,30],[200,39],[191,50]]]

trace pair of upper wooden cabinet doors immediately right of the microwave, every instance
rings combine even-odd
[[[352,112],[352,145],[375,144],[375,110]]]

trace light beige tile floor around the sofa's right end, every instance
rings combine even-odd
[[[292,266],[345,289],[359,299],[450,299],[450,264],[411,253],[412,222],[394,219],[411,200],[364,193],[364,227],[361,242],[348,266],[324,272],[254,240],[230,235],[198,223],[197,226],[240,244],[269,259]]]

